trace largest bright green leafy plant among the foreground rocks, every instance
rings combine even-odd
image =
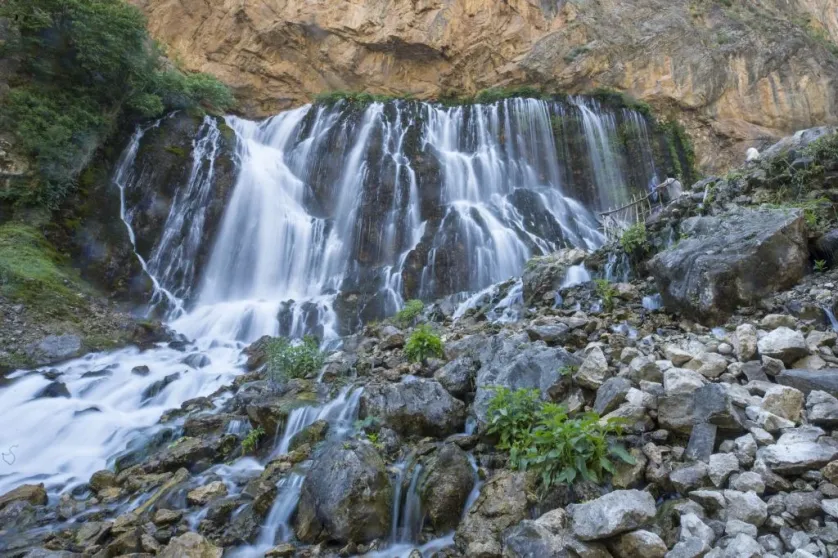
[[[539,474],[544,490],[577,478],[600,482],[614,472],[613,459],[634,459],[608,437],[621,433],[617,419],[604,421],[596,413],[568,416],[564,407],[538,400],[536,390],[497,389],[489,402],[489,433],[508,449],[515,469]]]

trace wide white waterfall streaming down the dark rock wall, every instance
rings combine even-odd
[[[192,337],[336,338],[405,300],[519,275],[533,255],[596,248],[596,212],[654,185],[661,164],[642,115],[581,98],[338,102],[227,124],[238,177],[217,230],[204,219],[219,133],[207,119],[143,255],[154,302],[187,308],[176,327]],[[141,141],[117,174],[129,191],[154,187],[132,172]]]

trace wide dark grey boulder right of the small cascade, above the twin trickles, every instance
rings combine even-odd
[[[374,383],[361,395],[360,417],[377,417],[406,436],[443,437],[462,432],[466,406],[436,380],[405,378]]]

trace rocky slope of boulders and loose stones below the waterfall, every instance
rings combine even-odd
[[[0,496],[0,555],[834,556],[836,147],[834,130],[801,134],[693,185],[643,247],[538,258],[458,319],[442,300],[370,325],[305,378],[273,382],[260,340],[232,384],[86,484]],[[567,285],[583,262],[614,281]],[[526,306],[509,302],[519,288]],[[421,322],[443,358],[408,360]],[[539,489],[487,432],[497,387],[621,419],[633,459]]]

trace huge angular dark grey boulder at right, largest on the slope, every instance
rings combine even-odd
[[[702,322],[724,321],[738,307],[787,289],[809,259],[803,212],[734,209],[691,217],[690,238],[649,262],[667,308]]]

